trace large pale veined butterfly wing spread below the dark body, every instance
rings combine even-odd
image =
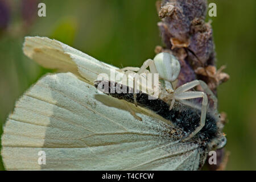
[[[135,110],[142,121],[129,110]],[[16,102],[2,135],[6,169],[197,169],[199,146],[133,104],[72,73],[41,78]],[[38,152],[46,152],[46,165]]]

